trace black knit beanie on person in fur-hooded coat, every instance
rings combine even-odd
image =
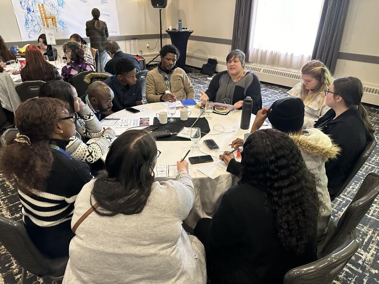
[[[297,132],[304,123],[304,102],[293,97],[276,100],[267,111],[267,118],[281,132]]]

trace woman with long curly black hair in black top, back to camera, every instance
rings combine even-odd
[[[247,138],[241,164],[239,184],[194,231],[208,275],[222,284],[282,283],[289,269],[316,259],[314,178],[293,140],[273,129]]]

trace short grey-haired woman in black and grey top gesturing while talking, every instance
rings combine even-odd
[[[260,82],[256,74],[246,71],[245,54],[241,50],[232,50],[226,56],[227,70],[213,77],[206,92],[200,91],[202,100],[211,100],[232,104],[233,108],[242,107],[243,100],[251,97],[253,100],[252,113],[262,108]]]

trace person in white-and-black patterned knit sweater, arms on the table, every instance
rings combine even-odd
[[[76,160],[89,164],[100,160],[116,134],[111,128],[103,130],[93,111],[78,98],[75,88],[64,81],[49,81],[41,87],[39,96],[67,102],[78,132],[67,139],[54,140],[54,143],[65,149]],[[86,144],[90,138],[98,139]]]

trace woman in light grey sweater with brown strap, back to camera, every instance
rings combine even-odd
[[[155,182],[159,154],[144,130],[111,145],[106,171],[75,202],[64,284],[207,283],[204,247],[182,227],[195,200],[188,163],[177,162],[175,180]]]

